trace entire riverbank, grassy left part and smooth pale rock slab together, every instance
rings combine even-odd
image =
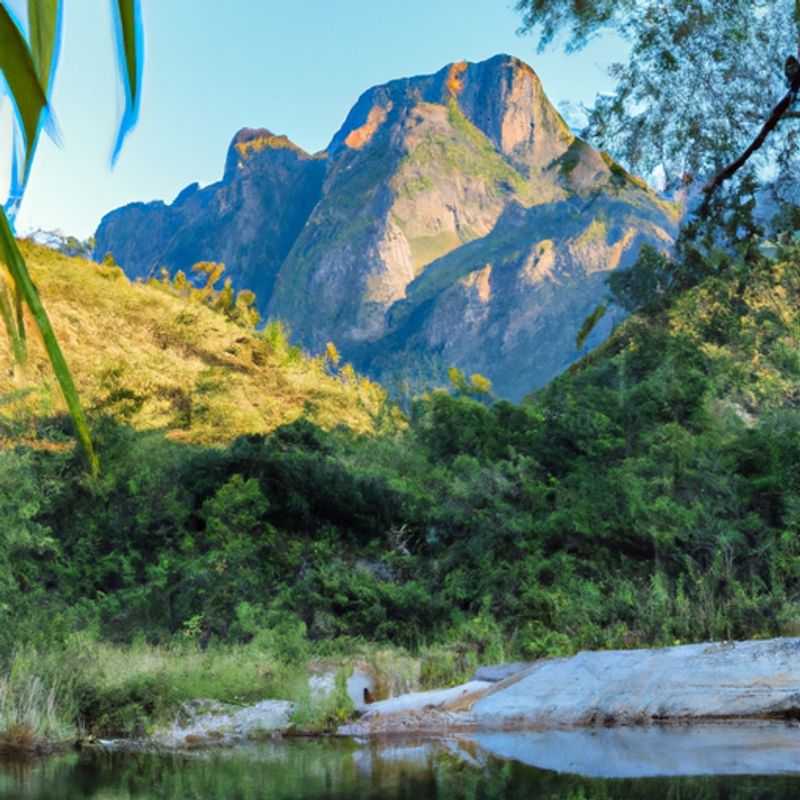
[[[60,667],[21,654],[0,682],[0,751],[800,718],[797,638],[582,652],[470,675],[434,670],[446,654],[353,645],[291,660],[258,645],[74,640]]]

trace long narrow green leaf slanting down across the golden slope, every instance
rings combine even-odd
[[[28,305],[31,315],[39,328],[45,349],[47,350],[47,355],[50,357],[50,363],[53,365],[53,372],[61,386],[61,392],[64,395],[67,408],[75,424],[78,440],[83,447],[86,460],[89,463],[89,469],[92,475],[96,476],[100,471],[100,462],[94,452],[92,438],[89,433],[89,425],[86,422],[86,417],[81,407],[78,390],[75,388],[75,382],[72,380],[72,373],[70,373],[64,354],[61,352],[61,347],[58,344],[53,326],[50,324],[50,319],[47,316],[47,312],[44,310],[39,292],[36,286],[34,286],[25,260],[17,246],[17,240],[14,238],[11,225],[2,208],[0,208],[0,259],[2,259],[8,267],[8,271],[11,273],[17,290]]]

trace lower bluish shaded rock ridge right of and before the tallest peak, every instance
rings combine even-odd
[[[457,366],[519,400],[580,357],[576,334],[605,296],[609,273],[630,267],[645,244],[666,248],[672,230],[655,204],[624,197],[510,206],[491,233],[415,278],[388,313],[390,332],[356,363],[389,385],[412,386],[437,370],[446,384],[447,368]],[[612,307],[586,347],[620,318]],[[419,364],[430,361],[420,381]]]

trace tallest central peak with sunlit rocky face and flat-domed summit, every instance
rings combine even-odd
[[[312,348],[333,328],[345,350],[379,339],[430,264],[488,235],[509,204],[564,196],[546,171],[572,143],[536,74],[507,56],[370,89],[331,142],[270,313]]]

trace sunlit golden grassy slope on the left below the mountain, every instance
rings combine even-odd
[[[132,284],[116,268],[22,247],[90,412],[181,440],[218,442],[271,431],[304,412],[325,428],[368,431],[383,408],[379,386],[349,369],[331,374],[281,336],[270,340],[163,288]],[[63,410],[31,336],[26,367],[0,374],[6,419]],[[0,363],[11,363],[5,336]]]

